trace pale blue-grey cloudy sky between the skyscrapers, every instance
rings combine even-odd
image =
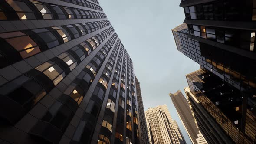
[[[199,65],[177,51],[171,29],[184,21],[181,0],[99,0],[124,44],[141,83],[144,109],[168,106],[187,144],[185,131],[168,93],[187,87],[185,75]]]

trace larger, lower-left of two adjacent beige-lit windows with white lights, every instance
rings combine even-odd
[[[43,72],[49,79],[53,81],[54,85],[57,85],[66,76],[59,65],[52,61],[45,62],[35,69]]]

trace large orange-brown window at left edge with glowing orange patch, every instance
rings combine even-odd
[[[1,33],[0,37],[13,46],[23,59],[41,52],[37,44],[22,32]]]

